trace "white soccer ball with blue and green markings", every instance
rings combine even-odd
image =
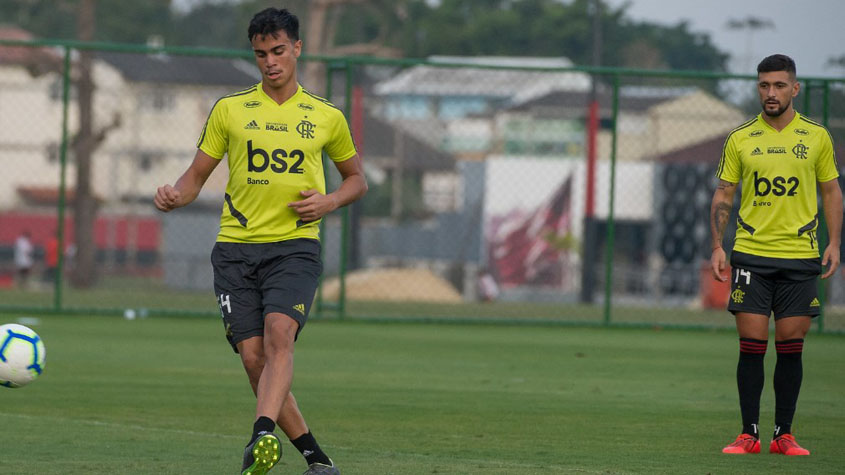
[[[0,325],[0,386],[19,388],[44,371],[47,352],[41,337],[16,323]]]

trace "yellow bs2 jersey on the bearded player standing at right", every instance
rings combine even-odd
[[[827,129],[796,113],[778,132],[758,115],[728,135],[716,176],[742,181],[735,250],[819,257],[816,183],[839,176]]]

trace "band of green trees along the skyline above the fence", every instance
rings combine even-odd
[[[0,0],[0,18],[46,38],[73,38],[65,19],[80,0]],[[94,39],[143,43],[163,36],[168,44],[247,48],[246,25],[267,0],[201,2],[183,13],[172,0],[99,0]],[[308,55],[565,56],[592,64],[592,0],[288,0],[302,22]],[[725,71],[728,55],[686,22],[658,25],[632,21],[628,4],[602,1],[606,66]],[[732,20],[750,35],[771,22]],[[305,65],[308,70],[311,66]],[[313,74],[313,73],[312,73]],[[306,81],[310,86],[311,79]]]

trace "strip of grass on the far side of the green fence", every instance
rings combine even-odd
[[[110,276],[101,279],[91,289],[65,286],[62,295],[64,310],[73,313],[112,312],[122,309],[147,309],[162,315],[166,313],[193,313],[217,315],[216,300],[211,290],[186,291],[173,289],[162,281]],[[28,290],[0,289],[0,312],[9,308],[28,308],[44,311],[54,305],[53,288],[33,286]],[[333,317],[337,302],[325,302],[324,316]],[[352,319],[386,320],[496,320],[533,322],[545,324],[604,322],[604,302],[595,305],[559,302],[389,302],[349,301],[346,315]],[[733,319],[722,309],[700,309],[664,302],[660,299],[631,304],[616,298],[612,302],[610,320],[620,325],[732,328]],[[830,332],[845,332],[845,306],[825,307],[824,328]]]

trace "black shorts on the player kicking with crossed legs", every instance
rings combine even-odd
[[[264,335],[264,317],[269,313],[296,320],[299,337],[323,271],[319,241],[218,242],[211,251],[211,265],[226,339],[235,353],[239,342]]]

